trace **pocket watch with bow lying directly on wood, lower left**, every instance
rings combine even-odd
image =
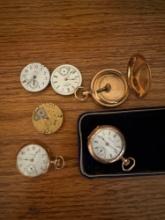
[[[27,177],[37,177],[48,172],[53,165],[55,169],[62,169],[65,165],[62,156],[51,160],[48,151],[39,144],[28,144],[22,147],[16,159],[19,172]]]

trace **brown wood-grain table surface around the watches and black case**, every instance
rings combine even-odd
[[[0,0],[0,8],[0,219],[165,219],[165,176],[90,180],[80,174],[77,118],[104,108],[92,99],[61,97],[50,86],[28,93],[19,81],[30,62],[50,71],[70,63],[88,88],[103,68],[126,72],[129,57],[139,52],[151,66],[151,91],[143,100],[130,94],[119,108],[165,105],[165,1]],[[44,136],[32,126],[32,111],[43,102],[64,111],[56,134]],[[16,153],[35,141],[63,155],[65,169],[21,176]]]

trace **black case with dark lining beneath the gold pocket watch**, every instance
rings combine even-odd
[[[124,134],[124,156],[131,156],[136,160],[132,171],[123,172],[121,160],[102,164],[89,154],[88,135],[98,125],[113,125]],[[80,170],[87,177],[165,174],[164,107],[84,113],[78,120],[78,133]]]

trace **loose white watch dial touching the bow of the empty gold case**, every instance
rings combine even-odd
[[[71,95],[82,83],[80,71],[72,65],[64,64],[57,67],[51,76],[51,85],[60,95]]]

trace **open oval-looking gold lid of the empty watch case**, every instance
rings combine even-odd
[[[128,63],[128,84],[129,87],[141,98],[145,96],[151,86],[151,70],[140,54],[133,55]]]

